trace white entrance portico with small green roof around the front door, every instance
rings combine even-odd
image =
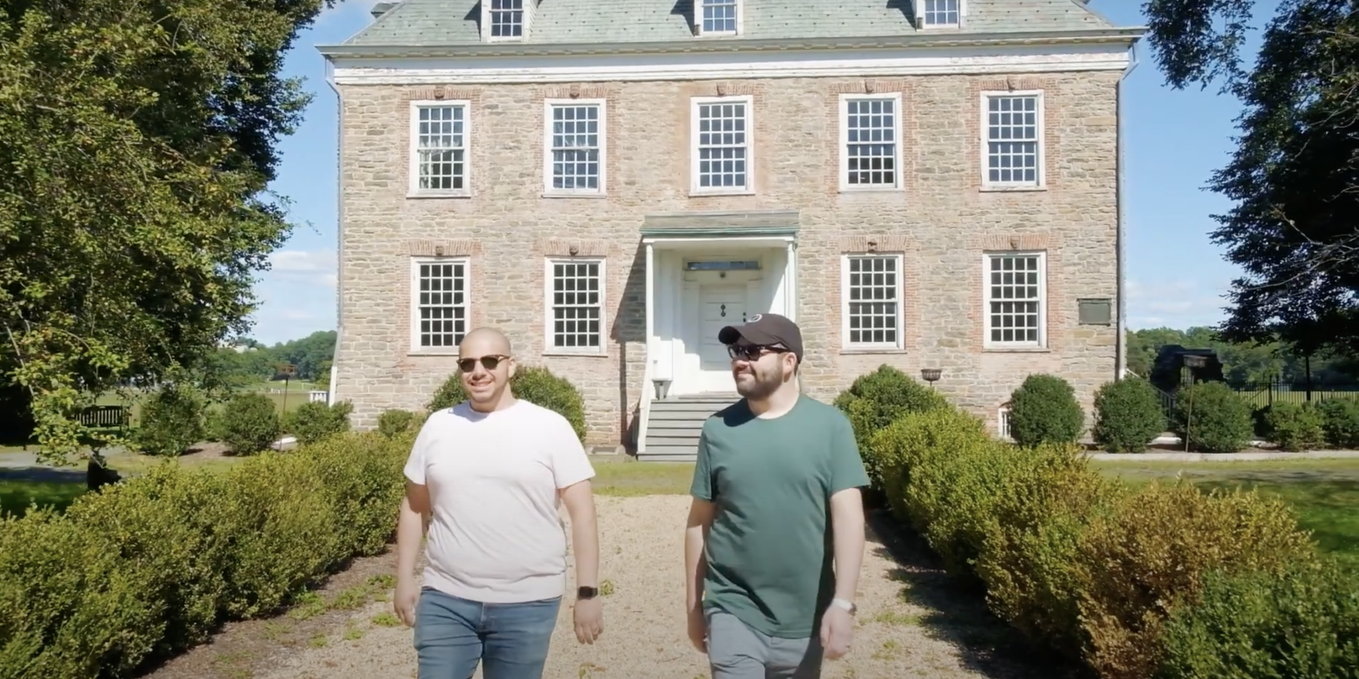
[[[666,398],[734,394],[723,326],[796,319],[796,210],[647,216],[647,384]],[[646,399],[646,397],[644,397]]]

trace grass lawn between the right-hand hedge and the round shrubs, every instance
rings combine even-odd
[[[1132,485],[1182,474],[1203,489],[1256,489],[1283,498],[1322,550],[1359,568],[1359,460],[1094,462]]]

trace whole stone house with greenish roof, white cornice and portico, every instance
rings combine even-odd
[[[1003,433],[1031,372],[1121,373],[1120,83],[1082,0],[405,0],[318,48],[340,98],[332,390],[419,409],[472,327],[575,383],[588,443],[693,454],[718,329],[802,388],[878,365]],[[662,397],[663,391],[663,398]]]

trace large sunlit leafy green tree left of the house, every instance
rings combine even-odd
[[[283,57],[330,1],[0,4],[0,409],[50,459],[98,394],[247,329],[307,103]]]

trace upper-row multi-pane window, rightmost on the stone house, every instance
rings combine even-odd
[[[987,98],[987,183],[1038,185],[1038,95]]]

